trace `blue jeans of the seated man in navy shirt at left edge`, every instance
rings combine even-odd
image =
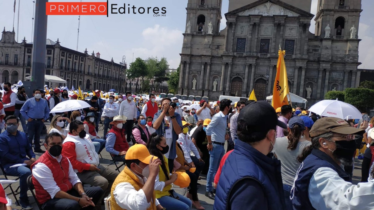
[[[31,170],[25,166],[18,166],[15,168],[8,168],[5,170],[7,175],[19,177],[19,198],[22,201],[27,201],[27,177],[31,175]]]

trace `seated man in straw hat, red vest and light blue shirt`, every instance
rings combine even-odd
[[[123,123],[126,122],[126,119],[123,120],[123,116],[116,116],[113,118],[112,128],[107,133],[107,143],[105,144],[105,149],[111,155],[113,155],[114,160],[119,162],[125,161],[126,151],[129,149],[129,144],[126,141],[125,129]]]

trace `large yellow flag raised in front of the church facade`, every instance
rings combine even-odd
[[[284,62],[285,50],[278,52],[277,75],[273,87],[272,106],[276,109],[283,105],[289,105],[287,95],[289,94],[286,64]]]

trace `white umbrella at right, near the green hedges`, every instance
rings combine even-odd
[[[350,104],[336,100],[323,100],[312,107],[309,111],[324,117],[337,117],[340,119],[360,119],[362,114],[358,109]]]

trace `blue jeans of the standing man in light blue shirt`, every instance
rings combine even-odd
[[[224,145],[214,143],[212,151],[209,151],[210,160],[208,176],[206,176],[206,192],[211,192],[213,190],[212,182],[214,180],[215,173],[217,173],[218,166],[220,166],[220,162],[224,154]]]

